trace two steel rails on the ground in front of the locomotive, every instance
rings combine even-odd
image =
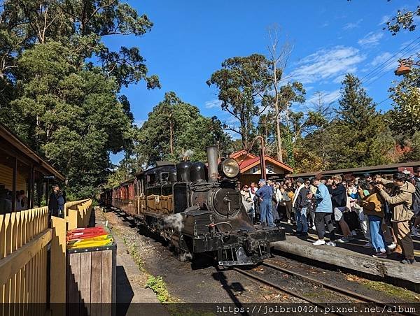
[[[262,264],[260,264],[260,266],[264,266],[265,268],[272,269],[272,271],[278,271],[280,273],[290,275],[293,278],[299,278],[300,280],[302,280],[304,282],[311,283],[312,285],[321,286],[324,289],[328,289],[331,292],[334,292],[335,294],[337,294],[337,295],[339,295],[343,298],[346,298],[351,303],[374,303],[376,306],[385,307],[385,308],[393,308],[393,305],[391,305],[389,303],[384,303],[384,302],[379,301],[379,300],[377,300],[373,297],[370,297],[370,296],[365,296],[365,295],[358,294],[357,292],[353,292],[349,289],[343,289],[343,288],[340,288],[340,287],[336,287],[334,285],[329,284],[326,281],[318,280],[316,278],[311,278],[309,275],[304,275],[304,274],[298,273],[296,271],[291,271],[288,268],[283,268],[281,266],[276,266],[276,265],[270,264],[268,262],[262,262]],[[285,285],[279,285],[278,283],[272,282],[271,280],[267,280],[267,278],[264,278],[260,275],[256,275],[255,273],[245,271],[245,270],[243,270],[241,268],[237,268],[237,267],[232,268],[232,270],[234,270],[238,273],[241,273],[242,275],[246,275],[246,277],[248,277],[252,280],[263,283],[265,285],[268,285],[269,287],[272,287],[274,289],[278,289],[281,292],[284,292],[286,294],[294,296],[297,299],[307,301],[308,303],[311,303],[314,306],[318,306],[319,308],[325,308],[326,306],[328,306],[328,303],[321,303],[319,301],[316,301],[316,299],[313,299],[313,298],[311,298],[307,295],[296,292],[293,289],[290,289],[290,288],[286,287]],[[341,314],[341,313],[333,313],[333,314],[344,315],[344,314]],[[402,313],[401,315],[419,315],[419,314]]]

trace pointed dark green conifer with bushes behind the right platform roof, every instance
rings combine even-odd
[[[311,171],[393,161],[395,140],[384,115],[375,110],[358,78],[348,74],[342,85],[337,116],[328,122],[322,111],[312,115],[314,128],[299,141],[299,157]]]

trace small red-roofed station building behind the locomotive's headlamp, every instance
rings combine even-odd
[[[239,181],[241,184],[249,185],[251,182],[258,183],[258,180],[261,178],[260,157],[246,152],[246,150],[239,150],[239,152],[231,154],[230,158],[235,159],[239,164]],[[286,175],[293,173],[292,167],[283,164],[283,162],[269,155],[265,155],[264,160],[267,179],[283,179]]]

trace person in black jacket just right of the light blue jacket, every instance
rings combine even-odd
[[[338,243],[348,243],[353,239],[349,225],[344,220],[343,213],[346,210],[347,192],[346,187],[342,185],[341,175],[334,175],[332,177],[331,190],[332,210],[334,211],[335,222],[339,224],[342,229],[343,237],[337,240]]]

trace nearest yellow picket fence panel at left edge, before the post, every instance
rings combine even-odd
[[[9,303],[2,305],[7,310],[0,314],[20,315],[28,303],[47,302],[47,245],[51,240],[46,207],[0,215],[0,303]],[[41,304],[34,307],[37,310],[31,313],[45,312]]]

